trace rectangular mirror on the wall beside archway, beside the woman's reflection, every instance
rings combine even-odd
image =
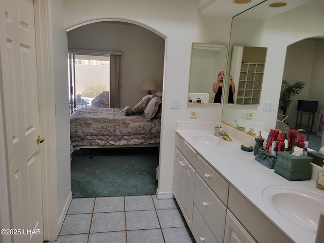
[[[192,43],[189,103],[214,104],[213,83],[225,71],[226,58],[227,45]]]

